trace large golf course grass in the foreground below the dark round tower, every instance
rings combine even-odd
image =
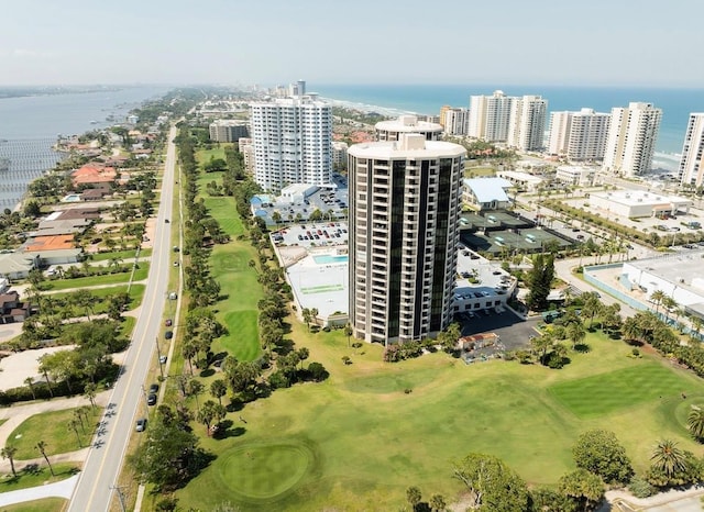
[[[177,493],[183,507],[232,500],[262,511],[396,510],[410,485],[455,497],[461,488],[450,477],[451,463],[470,452],[501,457],[530,485],[554,485],[574,469],[576,437],[594,427],[614,431],[639,471],[659,438],[701,449],[685,418],[690,403],[704,402],[704,383],[656,358],[630,358],[628,346],[601,333],[590,334],[591,352],[571,353],[562,370],[501,360],[466,366],[444,354],[386,365],[376,345],[348,349],[340,331],[309,334],[298,322],[292,337],[330,378],[276,390],[229,414],[232,436],[202,438],[218,458]],[[342,355],[352,365],[344,366]],[[624,382],[631,379],[649,389],[634,390]],[[594,394],[581,418],[573,412],[581,402],[556,391],[594,381],[597,390],[613,386],[614,394],[627,391],[637,403],[622,397],[602,404]],[[272,469],[274,459],[282,468]]]

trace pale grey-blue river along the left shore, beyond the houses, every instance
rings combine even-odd
[[[0,209],[13,209],[33,179],[54,167],[57,135],[79,135],[124,121],[164,86],[114,86],[91,92],[0,98]],[[114,121],[108,121],[108,118]]]

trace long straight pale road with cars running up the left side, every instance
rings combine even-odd
[[[140,400],[146,398],[143,392],[144,380],[150,366],[158,364],[155,341],[164,314],[168,286],[172,230],[165,220],[170,220],[174,197],[176,147],[172,141],[175,136],[176,129],[172,129],[154,233],[152,265],[142,309],[124,359],[123,374],[113,386],[110,404],[101,419],[102,426],[94,438],[90,454],[70,499],[69,512],[100,512],[110,509],[130,435],[134,431],[135,413]]]

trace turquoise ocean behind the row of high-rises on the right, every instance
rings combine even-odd
[[[432,86],[432,85],[310,85],[309,89],[323,99],[356,104],[384,114],[411,112],[438,115],[444,104],[469,108],[470,96],[491,94],[501,89],[508,96],[539,94],[548,100],[548,112],[591,108],[610,112],[614,107],[627,107],[631,101],[652,103],[662,109],[658,134],[657,164],[672,166],[679,162],[684,132],[691,112],[704,112],[704,89],[653,89],[560,86]],[[547,129],[547,126],[546,126]],[[663,160],[663,162],[661,162]],[[674,164],[676,168],[676,164]]]

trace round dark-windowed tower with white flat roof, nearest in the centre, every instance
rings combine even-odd
[[[466,151],[404,133],[348,155],[353,333],[385,345],[433,336],[452,319]]]

